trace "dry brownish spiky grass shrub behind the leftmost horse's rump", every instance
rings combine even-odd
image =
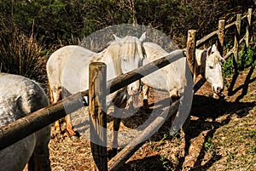
[[[0,71],[45,81],[45,56],[43,47],[33,35],[25,34],[11,22],[2,18],[0,30]]]

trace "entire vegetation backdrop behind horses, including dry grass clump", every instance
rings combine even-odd
[[[189,29],[196,29],[201,38],[218,28],[219,19],[236,20],[235,14],[246,13],[253,4],[253,0],[2,0],[0,71],[45,83],[45,63],[55,49],[119,24],[151,26],[184,48]],[[253,55],[252,50],[249,63],[255,60]]]

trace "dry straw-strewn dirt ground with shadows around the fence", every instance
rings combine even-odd
[[[205,83],[194,96],[187,134],[171,136],[167,121],[119,170],[256,170],[256,73],[247,69],[233,80],[234,85],[232,78],[226,78],[230,89],[225,87],[223,100],[212,99],[212,89]],[[151,94],[151,110],[157,95],[164,96]],[[136,128],[149,114],[139,109],[136,115],[122,120],[121,129]],[[84,133],[79,138],[52,134],[49,149],[53,171],[91,169],[88,125],[86,121],[76,125]],[[109,119],[108,128],[111,125]]]

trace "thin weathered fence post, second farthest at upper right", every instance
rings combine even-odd
[[[235,35],[235,43],[234,43],[235,60],[233,60],[235,72],[237,72],[238,46],[239,46],[239,40],[240,40],[240,32],[241,32],[241,14],[236,14],[236,35]]]

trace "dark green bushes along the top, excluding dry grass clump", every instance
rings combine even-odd
[[[252,2],[236,2],[240,9],[234,9],[230,1],[212,0],[3,0],[0,14],[47,45],[66,45],[107,26],[137,23],[163,31],[183,48],[189,29],[203,37],[218,27],[220,17],[233,9],[242,13]]]

